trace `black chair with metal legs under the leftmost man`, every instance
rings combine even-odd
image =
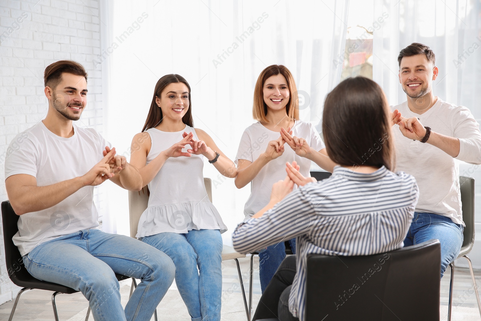
[[[13,303],[12,312],[10,313],[10,318],[8,321],[12,321],[13,314],[15,313],[15,309],[17,308],[18,299],[20,295],[24,293],[26,290],[31,289],[39,289],[39,290],[47,290],[53,291],[52,295],[52,307],[53,307],[53,314],[55,317],[55,321],[59,321],[57,307],[55,305],[55,296],[59,293],[65,294],[72,294],[78,291],[69,288],[68,286],[40,281],[34,278],[30,273],[28,273],[27,269],[25,268],[22,256],[18,251],[18,247],[13,244],[12,238],[13,235],[16,234],[18,231],[17,221],[18,215],[15,214],[13,211],[12,205],[10,205],[9,201],[4,201],[1,203],[1,214],[2,214],[2,223],[3,223],[3,242],[5,244],[5,263],[7,266],[8,276],[10,280],[17,285],[21,286],[23,289],[17,294],[15,298],[15,302]],[[115,274],[117,280],[122,281],[128,279],[128,276]],[[89,320],[89,312],[88,311],[86,321]]]

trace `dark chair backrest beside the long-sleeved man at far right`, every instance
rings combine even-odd
[[[468,246],[467,253],[474,244],[474,179],[472,177],[459,176],[461,190],[461,203],[463,211],[464,241],[462,247]],[[464,250],[464,249],[463,249]]]

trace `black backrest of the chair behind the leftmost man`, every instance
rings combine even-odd
[[[17,222],[19,216],[15,214],[9,201],[1,203],[1,218],[3,224],[3,244],[5,246],[5,264],[10,279],[15,284],[32,279],[33,277],[25,269],[18,247],[12,241],[13,235],[18,231]]]

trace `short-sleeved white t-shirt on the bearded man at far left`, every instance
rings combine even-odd
[[[5,160],[5,179],[28,174],[37,179],[37,186],[47,186],[86,174],[110,144],[92,128],[73,126],[69,138],[55,135],[41,121],[18,134],[9,146],[13,149]],[[21,215],[13,236],[20,254],[56,237],[98,227],[93,189],[82,187],[57,205]]]

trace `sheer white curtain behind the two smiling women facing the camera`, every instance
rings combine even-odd
[[[104,135],[119,154],[128,156],[155,83],[165,74],[189,81],[195,127],[232,160],[243,130],[254,122],[253,89],[266,66],[284,64],[291,70],[301,119],[316,125],[325,95],[339,81],[341,68],[332,61],[343,54],[348,0],[101,3],[111,29],[110,35],[102,33],[105,54],[96,64],[108,70],[103,72],[109,87]],[[209,163],[204,176],[213,180],[214,205],[231,232],[243,218],[250,187],[237,190]],[[116,231],[128,234],[127,193],[109,187],[108,203]],[[223,234],[225,243],[229,232]]]

